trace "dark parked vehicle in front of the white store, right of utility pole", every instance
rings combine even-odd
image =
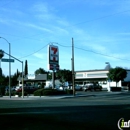
[[[83,87],[83,91],[92,91],[92,90],[102,90],[102,86],[99,85],[98,83],[87,83]]]

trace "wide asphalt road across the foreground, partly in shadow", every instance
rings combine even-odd
[[[120,118],[130,120],[129,93],[87,94],[61,99],[0,100],[0,126],[3,130],[118,130]]]

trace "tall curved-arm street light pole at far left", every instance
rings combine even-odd
[[[11,55],[11,45],[8,42],[7,39],[5,39],[4,37],[0,37],[2,39],[4,39],[8,44],[9,44],[9,59],[10,59],[10,55]],[[11,62],[9,62],[9,97],[11,98]]]

